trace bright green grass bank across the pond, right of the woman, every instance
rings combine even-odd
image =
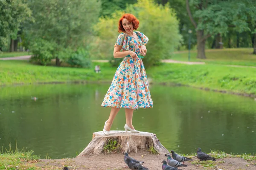
[[[148,69],[147,75],[153,82],[180,83],[199,88],[256,94],[256,68],[166,63]]]

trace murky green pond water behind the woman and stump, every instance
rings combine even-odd
[[[100,131],[110,108],[100,107],[109,84],[31,85],[0,88],[0,147],[72,158]],[[256,153],[256,101],[187,87],[150,86],[154,108],[134,112],[134,127],[156,133],[169,150],[197,147]],[[36,96],[34,101],[31,97]],[[124,130],[120,110],[111,130]]]

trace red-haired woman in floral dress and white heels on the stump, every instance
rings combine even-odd
[[[119,20],[119,34],[114,45],[113,56],[123,58],[116,70],[115,76],[102,102],[103,107],[111,107],[108,120],[105,122],[103,132],[109,135],[111,125],[120,108],[125,108],[125,131],[139,133],[132,125],[134,109],[152,108],[153,102],[148,88],[148,80],[142,62],[147,53],[145,45],[148,42],[140,31],[139,20],[132,14],[124,14]],[[122,51],[121,51],[122,49]]]

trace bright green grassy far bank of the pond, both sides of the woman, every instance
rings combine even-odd
[[[91,69],[32,65],[27,61],[0,61],[0,85],[38,82],[107,81],[111,82],[116,68],[101,65],[101,74]],[[153,83],[180,83],[195,87],[256,94],[256,68],[225,65],[184,65],[165,63],[146,69]]]

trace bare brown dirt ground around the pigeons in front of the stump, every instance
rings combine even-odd
[[[129,156],[134,159],[144,161],[144,166],[150,170],[162,170],[162,161],[166,160],[164,155],[152,155],[150,153],[131,153]],[[179,170],[214,170],[214,165],[222,170],[256,170],[256,161],[248,162],[241,158],[227,157],[217,159],[217,161],[207,161],[198,163],[196,157],[192,157],[193,161],[185,162],[188,167],[179,167]],[[128,170],[124,162],[122,153],[101,154],[91,156],[81,156],[74,159],[41,159],[36,166],[43,170],[62,169],[64,166],[69,170]]]

